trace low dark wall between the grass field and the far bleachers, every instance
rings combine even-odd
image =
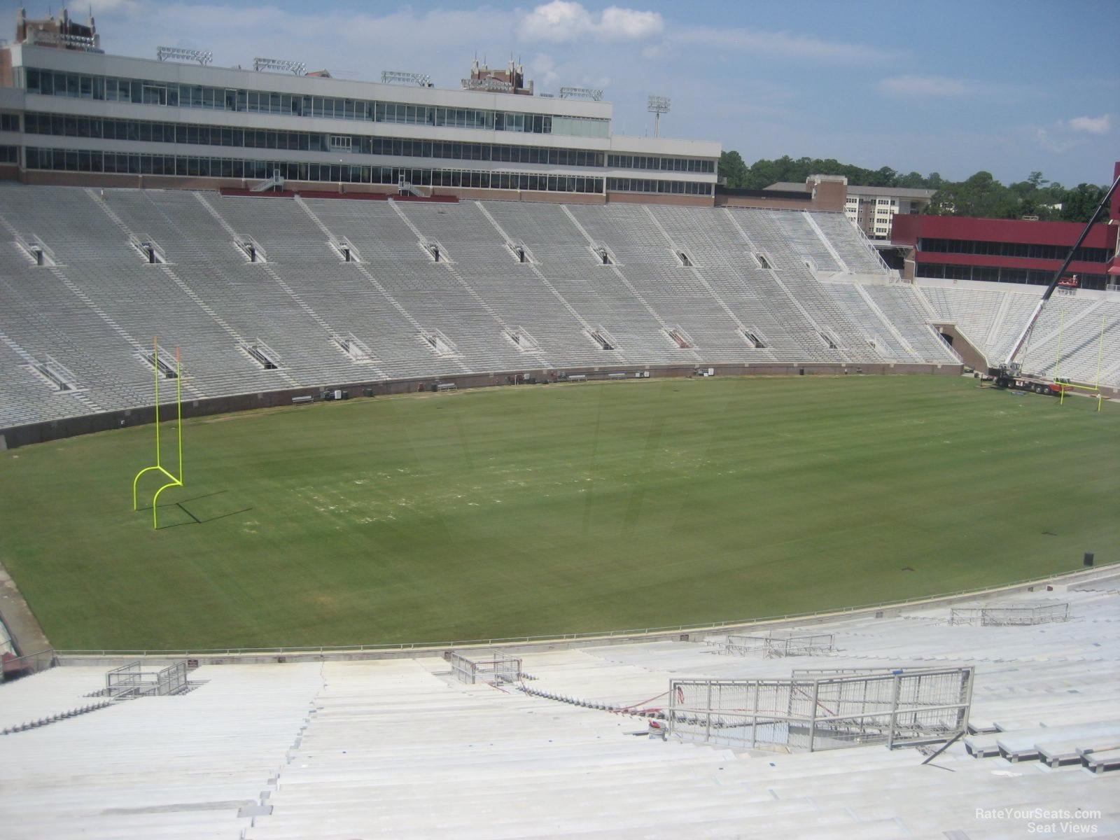
[[[211,414],[227,414],[234,411],[252,411],[253,409],[292,405],[296,398],[318,399],[325,391],[342,390],[349,396],[382,396],[389,394],[407,394],[436,391],[440,384],[454,384],[455,390],[469,388],[493,388],[514,384],[513,377],[531,379],[535,383],[563,382],[569,376],[586,376],[588,381],[620,379],[617,374],[626,374],[626,379],[636,379],[637,374],[655,379],[666,376],[693,376],[700,370],[712,370],[720,376],[843,376],[857,375],[892,375],[892,374],[934,374],[941,376],[959,376],[963,366],[959,364],[841,364],[841,363],[805,363],[805,364],[740,364],[740,365],[678,365],[678,366],[617,366],[617,367],[579,367],[568,370],[519,370],[498,371],[493,373],[474,373],[458,376],[422,376],[402,380],[375,380],[323,385],[306,385],[301,388],[235,394],[231,396],[214,396],[183,401],[184,417],[206,417]],[[616,375],[612,375],[616,374]],[[529,384],[522,382],[521,384]],[[165,403],[166,404],[166,403]],[[166,414],[165,408],[165,417]],[[129,426],[143,426],[156,419],[155,405],[106,411],[96,414],[83,414],[57,420],[45,420],[39,423],[0,428],[0,450],[16,449],[31,444],[45,444],[50,440],[73,438],[78,435],[92,435],[109,429]]]

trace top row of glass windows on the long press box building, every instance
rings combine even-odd
[[[437,108],[407,102],[380,102],[338,96],[309,96],[271,91],[152,82],[138,78],[110,78],[76,73],[24,67],[22,85],[28,93],[46,96],[132,102],[168,108],[198,108],[213,111],[318,116],[328,120],[515,131],[531,134],[575,134],[608,137],[610,121],[584,116],[554,116],[489,111],[470,108]],[[18,81],[17,81],[18,84]]]

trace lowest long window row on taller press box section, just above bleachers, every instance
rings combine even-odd
[[[13,147],[15,148],[15,147]],[[475,187],[549,193],[603,193],[603,178],[590,176],[482,172],[463,169],[404,169],[346,164],[300,164],[276,160],[239,160],[183,155],[134,155],[74,149],[25,149],[28,169],[128,175],[175,175],[196,178],[261,179],[279,169],[288,180],[335,184],[398,184],[404,178],[426,187]]]

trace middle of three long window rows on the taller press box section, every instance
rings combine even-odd
[[[235,129],[222,125],[193,125],[146,120],[112,120],[71,114],[29,112],[25,118],[28,134],[92,137],[108,140],[232,146],[250,149],[289,149],[298,151],[349,151],[363,155],[393,155],[411,158],[454,160],[494,160],[507,164],[601,167],[604,153],[585,149],[548,149],[536,146],[492,143],[452,143],[433,140],[402,140],[388,137],[323,134],[271,129]]]

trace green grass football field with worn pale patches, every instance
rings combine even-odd
[[[152,427],[0,454],[0,557],[65,648],[859,605],[1120,558],[1120,412],[1094,409],[970,379],[717,377],[196,419],[158,531],[130,496]]]

